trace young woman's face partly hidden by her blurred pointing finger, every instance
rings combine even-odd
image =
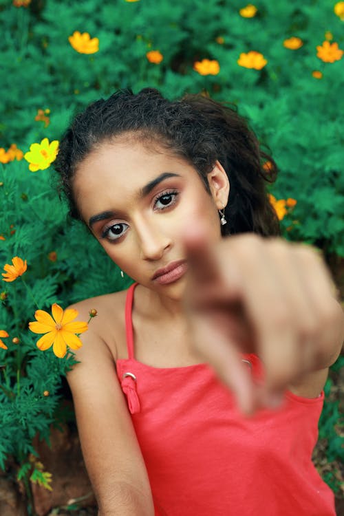
[[[105,142],[91,153],[78,166],[74,191],[109,257],[129,277],[172,298],[185,281],[185,230],[197,223],[209,241],[221,237],[222,204],[193,166],[133,140]]]

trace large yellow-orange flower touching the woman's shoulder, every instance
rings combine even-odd
[[[44,310],[36,310],[36,321],[30,322],[29,328],[34,333],[44,333],[36,343],[39,350],[45,351],[52,346],[58,358],[65,356],[67,346],[78,350],[83,343],[76,333],[85,332],[88,325],[80,321],[72,322],[77,315],[78,311],[74,308],[63,310],[56,303],[52,305],[52,316]]]

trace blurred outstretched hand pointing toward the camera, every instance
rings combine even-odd
[[[200,229],[186,235],[184,245],[193,346],[242,411],[279,405],[284,389],[335,361],[343,311],[315,250],[252,234],[211,246]],[[264,385],[253,383],[240,352],[261,358]]]

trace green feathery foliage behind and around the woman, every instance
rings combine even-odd
[[[7,151],[15,143],[25,153],[43,138],[58,140],[74,112],[118,88],[158,87],[169,98],[204,92],[237,105],[272,149],[281,172],[271,192],[277,199],[297,200],[281,221],[285,237],[344,257],[342,63],[323,63],[316,56],[327,31],[341,47],[343,22],[330,0],[259,0],[252,18],[240,16],[244,5],[32,0],[28,8],[17,8],[0,0],[1,147]],[[99,51],[76,52],[68,41],[76,30],[98,37]],[[299,36],[303,46],[284,47],[290,36]],[[149,50],[162,53],[159,65],[148,61]],[[241,52],[250,50],[264,54],[266,67],[237,64]],[[193,63],[203,58],[219,62],[218,75],[195,72]],[[323,77],[314,78],[314,70]],[[34,120],[38,109],[50,109],[47,127]],[[69,222],[55,182],[52,167],[33,173],[25,160],[0,163],[0,266],[16,255],[26,259],[23,279],[29,287],[19,278],[0,289],[0,330],[10,334],[4,339],[8,350],[0,349],[1,468],[8,455],[23,468],[36,453],[36,433],[49,439],[50,424],[58,423],[61,376],[74,363],[72,354],[58,359],[36,349],[28,331],[35,301],[44,310],[54,302],[66,308],[130,281],[120,277],[81,224]],[[19,344],[12,343],[14,337]],[[337,418],[338,405],[327,402],[321,435],[333,435]],[[338,440],[328,442],[327,458],[335,460]],[[32,469],[22,473],[32,475]]]

